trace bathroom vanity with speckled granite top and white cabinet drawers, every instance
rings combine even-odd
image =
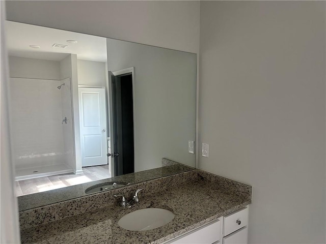
[[[121,207],[115,194],[140,202]],[[22,243],[246,243],[252,187],[202,170],[168,175],[110,191],[20,211]],[[174,214],[151,230],[130,231],[118,221],[135,210]],[[199,242],[200,241],[200,242]]]

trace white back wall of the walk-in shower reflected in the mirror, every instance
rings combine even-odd
[[[9,75],[20,77],[9,82],[16,169],[61,164],[62,101],[57,89],[60,81],[56,81],[60,79],[59,62],[9,56]]]

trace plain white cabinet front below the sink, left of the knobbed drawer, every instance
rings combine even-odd
[[[216,221],[168,242],[173,244],[212,244],[220,240],[221,222]]]

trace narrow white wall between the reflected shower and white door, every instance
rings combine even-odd
[[[72,96],[72,118],[67,117],[70,121],[73,121],[73,134],[67,134],[65,136],[68,142],[69,137],[74,138],[74,171],[75,173],[82,173],[82,160],[80,159],[80,132],[79,132],[79,105],[78,105],[78,78],[77,78],[77,55],[69,54],[66,58],[62,59],[60,62],[60,77],[61,79],[70,78],[70,89]],[[67,97],[66,97],[67,98]],[[67,110],[68,113],[68,110]],[[70,145],[70,143],[69,143]],[[71,151],[70,147],[67,147],[68,151]]]

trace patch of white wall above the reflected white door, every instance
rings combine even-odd
[[[106,63],[77,59],[78,85],[106,86]]]

